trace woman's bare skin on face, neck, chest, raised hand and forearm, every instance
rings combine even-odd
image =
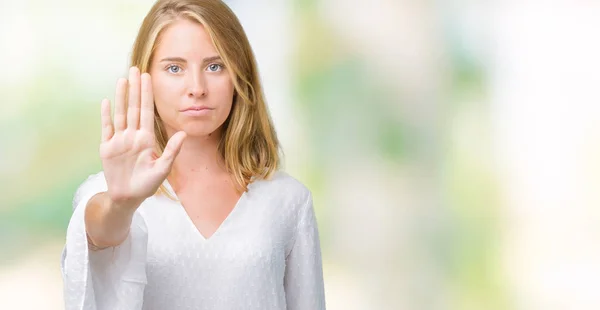
[[[132,67],[129,79],[117,82],[114,120],[110,102],[102,101],[100,158],[108,190],[92,197],[85,212],[88,237],[98,248],[126,239],[134,212],[167,178],[207,239],[241,196],[217,152],[232,107],[232,77],[204,27],[175,21],[161,34],[149,68],[140,75]],[[155,105],[169,137],[158,158]],[[192,107],[207,110],[184,111]]]

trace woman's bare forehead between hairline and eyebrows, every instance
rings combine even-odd
[[[187,19],[177,20],[161,32],[155,54],[159,60],[183,57],[189,61],[218,55],[204,26]]]

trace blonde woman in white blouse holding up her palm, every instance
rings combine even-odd
[[[310,191],[278,171],[256,61],[217,0],[152,7],[102,102],[103,171],[78,188],[67,309],[325,309]]]

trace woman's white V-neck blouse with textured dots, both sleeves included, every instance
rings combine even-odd
[[[106,189],[99,172],[75,193],[61,261],[67,310],[325,309],[312,196],[287,173],[252,182],[208,239],[160,195],[138,208],[121,245],[88,251],[84,209]]]

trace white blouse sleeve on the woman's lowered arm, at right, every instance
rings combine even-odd
[[[287,309],[324,310],[321,246],[310,192],[298,218],[295,240],[286,257],[284,287]]]

